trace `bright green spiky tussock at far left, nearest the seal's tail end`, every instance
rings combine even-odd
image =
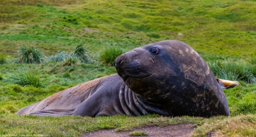
[[[16,73],[8,73],[5,82],[9,84],[18,84],[20,86],[42,86],[38,71],[34,69],[33,66],[22,66],[17,69]]]

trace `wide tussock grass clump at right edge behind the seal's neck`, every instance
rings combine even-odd
[[[256,78],[254,71],[255,64],[248,64],[246,62],[227,62],[216,61],[209,63],[209,67],[217,78],[232,80],[232,81],[245,81],[247,83],[255,83]]]

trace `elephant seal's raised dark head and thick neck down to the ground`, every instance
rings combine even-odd
[[[186,109],[174,115],[188,111],[191,115],[216,115],[210,110],[216,106],[224,108],[218,114],[229,115],[227,99],[214,74],[203,58],[183,42],[168,40],[133,49],[120,55],[115,67],[126,85],[143,100],[168,104],[168,109],[174,111]],[[203,114],[207,109],[210,112]]]

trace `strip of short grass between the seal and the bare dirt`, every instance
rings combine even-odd
[[[216,120],[216,118],[214,119]],[[49,136],[78,136],[81,135],[81,133],[97,131],[99,129],[116,128],[116,131],[130,131],[132,128],[147,125],[166,126],[168,124],[187,123],[199,120],[202,121],[203,119],[191,119],[188,117],[170,119],[159,115],[139,117],[117,115],[113,117],[99,118],[81,116],[38,118],[36,116],[10,114],[0,116],[0,121],[2,123],[0,132],[16,135],[42,134]],[[56,128],[57,125],[58,127]]]

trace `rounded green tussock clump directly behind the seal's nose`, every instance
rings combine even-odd
[[[108,66],[114,66],[115,58],[123,53],[123,49],[119,47],[106,47],[100,53],[100,61]]]

